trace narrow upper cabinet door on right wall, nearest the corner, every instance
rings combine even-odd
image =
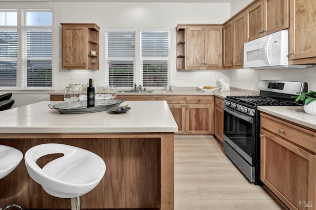
[[[223,67],[233,65],[233,22],[223,26]],[[243,55],[242,55],[243,56]]]

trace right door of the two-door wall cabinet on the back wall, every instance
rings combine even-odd
[[[205,28],[205,54],[204,66],[207,67],[222,67],[222,52],[223,52],[223,27],[213,26]]]

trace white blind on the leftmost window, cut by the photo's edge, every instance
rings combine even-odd
[[[16,87],[17,32],[0,30],[0,87]]]

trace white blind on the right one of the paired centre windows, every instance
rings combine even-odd
[[[170,31],[141,30],[141,84],[163,87],[169,84]]]

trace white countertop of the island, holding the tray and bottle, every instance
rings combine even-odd
[[[0,133],[138,133],[177,132],[166,101],[128,101],[131,110],[60,114],[50,109],[63,101],[41,101],[0,112]]]

